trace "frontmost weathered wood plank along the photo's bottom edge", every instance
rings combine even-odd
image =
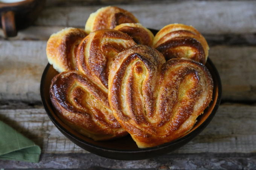
[[[201,154],[168,154],[152,159],[139,161],[120,161],[85,154],[42,154],[40,162],[29,163],[19,161],[1,161],[2,168],[82,168],[84,170],[140,169],[140,170],[168,170],[168,169],[256,169],[256,154],[244,153],[201,153]]]

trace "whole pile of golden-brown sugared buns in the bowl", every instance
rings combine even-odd
[[[192,26],[169,24],[154,36],[130,12],[107,6],[85,30],[50,36],[47,58],[59,72],[50,99],[64,123],[93,140],[130,134],[139,148],[167,143],[212,100],[208,50]]]

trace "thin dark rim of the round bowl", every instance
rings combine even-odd
[[[153,31],[157,31],[154,29],[151,29]],[[47,115],[49,116],[50,120],[52,120],[53,124],[62,132],[65,132],[66,135],[68,135],[69,137],[73,138],[76,141],[80,141],[82,142],[84,145],[89,146],[89,147],[93,147],[94,149],[99,149],[99,150],[105,150],[108,152],[119,152],[119,153],[139,153],[139,152],[151,152],[153,150],[157,150],[157,149],[163,149],[165,147],[169,147],[171,145],[180,143],[181,141],[184,140],[189,140],[194,138],[197,134],[199,134],[201,131],[203,131],[204,128],[206,128],[206,126],[210,123],[210,121],[212,120],[212,118],[215,116],[216,111],[218,110],[218,107],[220,105],[221,102],[221,96],[222,96],[222,85],[221,85],[221,79],[218,73],[218,70],[216,69],[215,65],[213,64],[213,62],[209,59],[207,59],[207,62],[209,63],[209,65],[212,67],[212,71],[215,73],[215,78],[217,80],[216,84],[218,84],[218,96],[216,99],[216,104],[214,105],[212,112],[209,114],[209,116],[204,120],[203,123],[201,123],[201,125],[199,125],[196,129],[194,129],[192,132],[190,132],[189,134],[184,135],[183,137],[180,137],[176,140],[170,141],[168,143],[164,143],[158,146],[154,146],[154,147],[147,147],[147,148],[138,148],[138,149],[114,149],[114,148],[108,148],[108,147],[101,147],[101,146],[97,146],[95,144],[89,143],[85,140],[83,140],[82,138],[79,138],[78,136],[72,134],[71,132],[69,132],[66,128],[64,128],[56,119],[55,117],[52,115],[51,111],[49,110],[49,108],[47,107],[46,104],[46,98],[44,96],[44,86],[43,84],[45,84],[46,81],[46,75],[47,72],[50,68],[50,63],[48,63],[43,71],[42,77],[41,77],[41,82],[40,82],[40,95],[41,95],[41,101],[42,104],[44,106],[44,109],[46,110]],[[62,133],[63,133],[62,132]],[[73,142],[73,141],[72,141]],[[85,149],[86,150],[86,149]]]

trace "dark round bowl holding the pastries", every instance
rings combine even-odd
[[[151,31],[154,34],[157,32],[157,30],[152,29]],[[174,141],[145,149],[138,148],[130,135],[109,141],[94,141],[91,138],[79,134],[78,132],[67,126],[65,123],[63,123],[56,115],[56,110],[53,108],[49,98],[51,80],[56,74],[58,74],[58,72],[49,63],[44,69],[41,78],[41,99],[46,113],[48,114],[54,125],[59,129],[59,131],[61,131],[62,134],[64,134],[67,138],[69,138],[71,141],[73,141],[75,144],[82,147],[83,149],[96,155],[111,159],[147,159],[163,155],[180,148],[181,146],[192,140],[195,136],[197,136],[201,131],[203,131],[203,129],[212,120],[221,101],[221,80],[219,78],[217,69],[209,58],[207,59],[206,67],[209,69],[213,78],[213,96],[209,107],[204,110],[204,114],[200,115],[197,118],[197,123],[195,124],[194,128],[187,132],[186,135],[183,135],[182,137]]]

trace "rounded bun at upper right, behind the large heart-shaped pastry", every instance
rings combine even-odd
[[[153,47],[160,51],[166,60],[186,57],[206,63],[209,46],[194,27],[184,24],[169,24],[163,27],[154,38]]]

